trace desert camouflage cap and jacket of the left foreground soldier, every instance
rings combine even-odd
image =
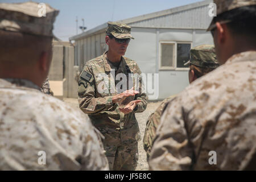
[[[0,29],[52,36],[59,11],[46,5],[40,19],[38,5],[0,3]],[[0,78],[0,94],[0,170],[109,169],[103,136],[84,113],[21,78]]]

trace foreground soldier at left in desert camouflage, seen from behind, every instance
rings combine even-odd
[[[0,170],[108,170],[89,118],[40,92],[59,11],[38,5],[0,3]]]

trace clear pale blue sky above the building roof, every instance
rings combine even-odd
[[[61,40],[68,41],[76,35],[76,16],[78,25],[82,18],[87,30],[108,21],[117,21],[134,16],[188,5],[202,0],[37,0],[60,10],[56,18],[53,33]],[[25,0],[0,0],[0,2],[26,2]],[[85,30],[86,31],[86,30]],[[79,29],[78,34],[82,31]]]

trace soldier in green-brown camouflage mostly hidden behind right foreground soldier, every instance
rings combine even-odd
[[[188,80],[189,83],[195,81],[197,78],[213,71],[219,66],[216,59],[216,53],[213,45],[201,45],[192,48],[190,51],[191,59],[184,65],[189,64]],[[143,138],[144,150],[147,152],[147,160],[149,159],[155,132],[160,122],[160,117],[166,104],[175,96],[170,96],[163,100],[160,106],[147,119],[147,125]]]

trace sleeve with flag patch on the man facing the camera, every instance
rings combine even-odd
[[[82,74],[85,73],[85,78]],[[85,65],[79,78],[79,86],[77,89],[79,98],[79,107],[85,114],[98,114],[102,111],[108,110],[113,106],[113,96],[96,98],[95,84],[92,69],[89,65]]]

